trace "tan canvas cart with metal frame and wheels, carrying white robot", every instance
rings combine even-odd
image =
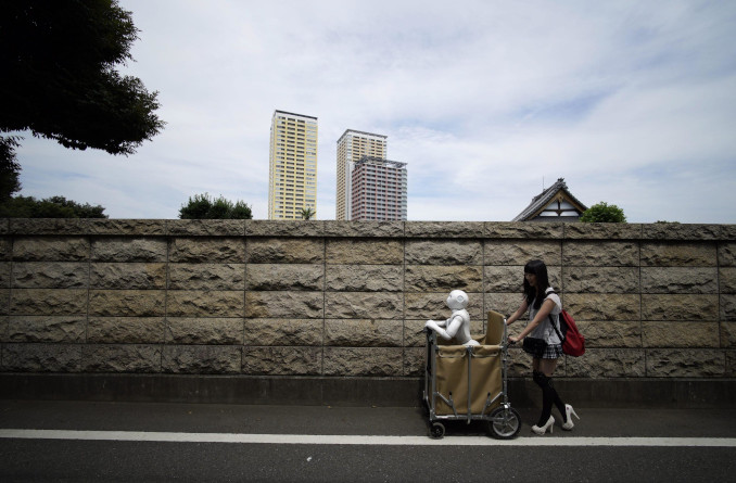
[[[445,435],[442,421],[487,422],[488,434],[510,440],[519,434],[521,418],[508,401],[508,338],[506,319],[488,312],[480,345],[447,345],[426,330],[423,399],[429,409],[429,436]]]

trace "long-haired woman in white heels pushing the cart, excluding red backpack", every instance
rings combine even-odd
[[[532,431],[544,434],[551,433],[555,418],[551,416],[553,404],[557,406],[564,422],[562,429],[570,431],[574,425],[571,416],[578,414],[569,404],[563,404],[553,385],[553,373],[557,367],[557,359],[562,356],[562,341],[557,335],[560,328],[559,314],[562,312],[560,297],[549,287],[547,266],[542,260],[531,260],[524,266],[524,300],[521,306],[507,320],[509,326],[517,321],[529,309],[529,323],[518,336],[509,336],[511,344],[530,336],[524,342],[524,352],[531,354],[532,376],[534,382],[542,387],[542,415]],[[549,317],[551,315],[551,318]],[[555,323],[557,330],[551,326]],[[533,344],[533,342],[536,342]]]

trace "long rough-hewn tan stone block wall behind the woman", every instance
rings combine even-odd
[[[0,220],[0,372],[416,380],[447,292],[482,333],[531,258],[587,339],[559,377],[735,376],[736,226],[118,219]]]

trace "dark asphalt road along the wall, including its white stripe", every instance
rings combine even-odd
[[[429,440],[422,408],[0,401],[0,481],[736,481],[731,410],[576,410],[572,432],[535,436],[537,410],[520,409],[522,432],[502,444],[461,421]],[[140,441],[157,435],[179,441]],[[205,442],[217,435],[274,442]],[[317,435],[329,443],[300,443]]]

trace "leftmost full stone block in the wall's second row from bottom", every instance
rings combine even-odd
[[[7,342],[85,342],[85,316],[13,316],[8,318]]]

